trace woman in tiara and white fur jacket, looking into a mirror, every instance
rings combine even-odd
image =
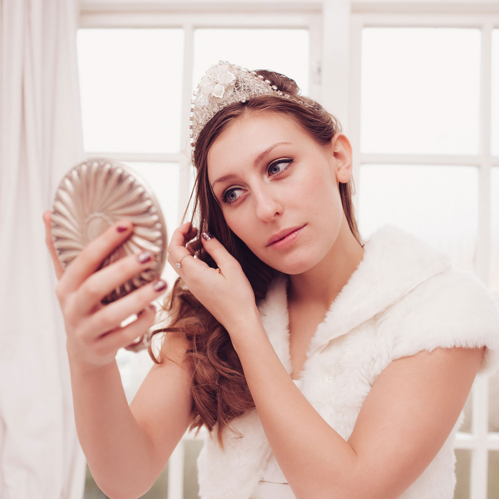
[[[165,283],[98,309],[149,255],[95,271],[121,221],[63,273],[44,216],[95,481],[140,496],[205,425],[203,499],[452,498],[460,413],[498,363],[494,298],[396,227],[361,240],[350,143],[293,80],[221,62],[192,108],[199,231],[172,236],[168,333],[130,408],[114,356],[147,335]]]

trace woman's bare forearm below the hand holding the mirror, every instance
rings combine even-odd
[[[80,445],[100,489],[112,499],[137,498],[154,482],[153,446],[138,425],[116,362],[84,369],[70,362]]]

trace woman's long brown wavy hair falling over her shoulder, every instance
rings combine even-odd
[[[265,297],[270,281],[278,272],[257,258],[226,224],[208,180],[207,158],[210,147],[226,128],[248,113],[272,112],[288,116],[318,144],[324,146],[330,143],[336,132],[341,131],[341,126],[320,104],[299,95],[299,88],[291,78],[268,70],[256,72],[270,80],[271,84],[276,85],[282,92],[306,102],[309,107],[280,97],[262,95],[252,97],[246,102],[228,105],[219,111],[203,128],[196,141],[193,155],[196,180],[191,201],[194,214],[192,223],[199,228],[198,244],[194,246],[201,248],[196,251],[196,256],[217,268],[215,261],[202,249],[203,246],[199,242],[202,232],[211,232],[239,261],[258,302]],[[362,244],[354,217],[351,183],[352,180],[339,184],[341,202],[350,230]],[[180,334],[189,344],[186,360],[190,362],[192,369],[191,429],[199,429],[203,425],[210,432],[216,429],[221,442],[221,430],[234,418],[254,408],[243,368],[229,333],[189,292],[180,277],[166,297],[163,309],[167,314],[167,325],[156,329],[153,334]],[[149,354],[156,363],[165,361],[163,354],[160,353],[159,358],[154,355],[151,346]]]

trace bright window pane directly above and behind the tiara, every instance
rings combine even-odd
[[[308,46],[306,29],[196,29],[193,88],[212,64],[224,60],[285,74],[308,95]]]

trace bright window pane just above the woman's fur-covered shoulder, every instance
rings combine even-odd
[[[474,269],[478,170],[469,166],[362,165],[359,229],[363,237],[395,224]]]

